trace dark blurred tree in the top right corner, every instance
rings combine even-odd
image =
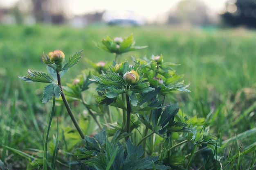
[[[223,21],[230,26],[256,28],[256,0],[228,0]]]

